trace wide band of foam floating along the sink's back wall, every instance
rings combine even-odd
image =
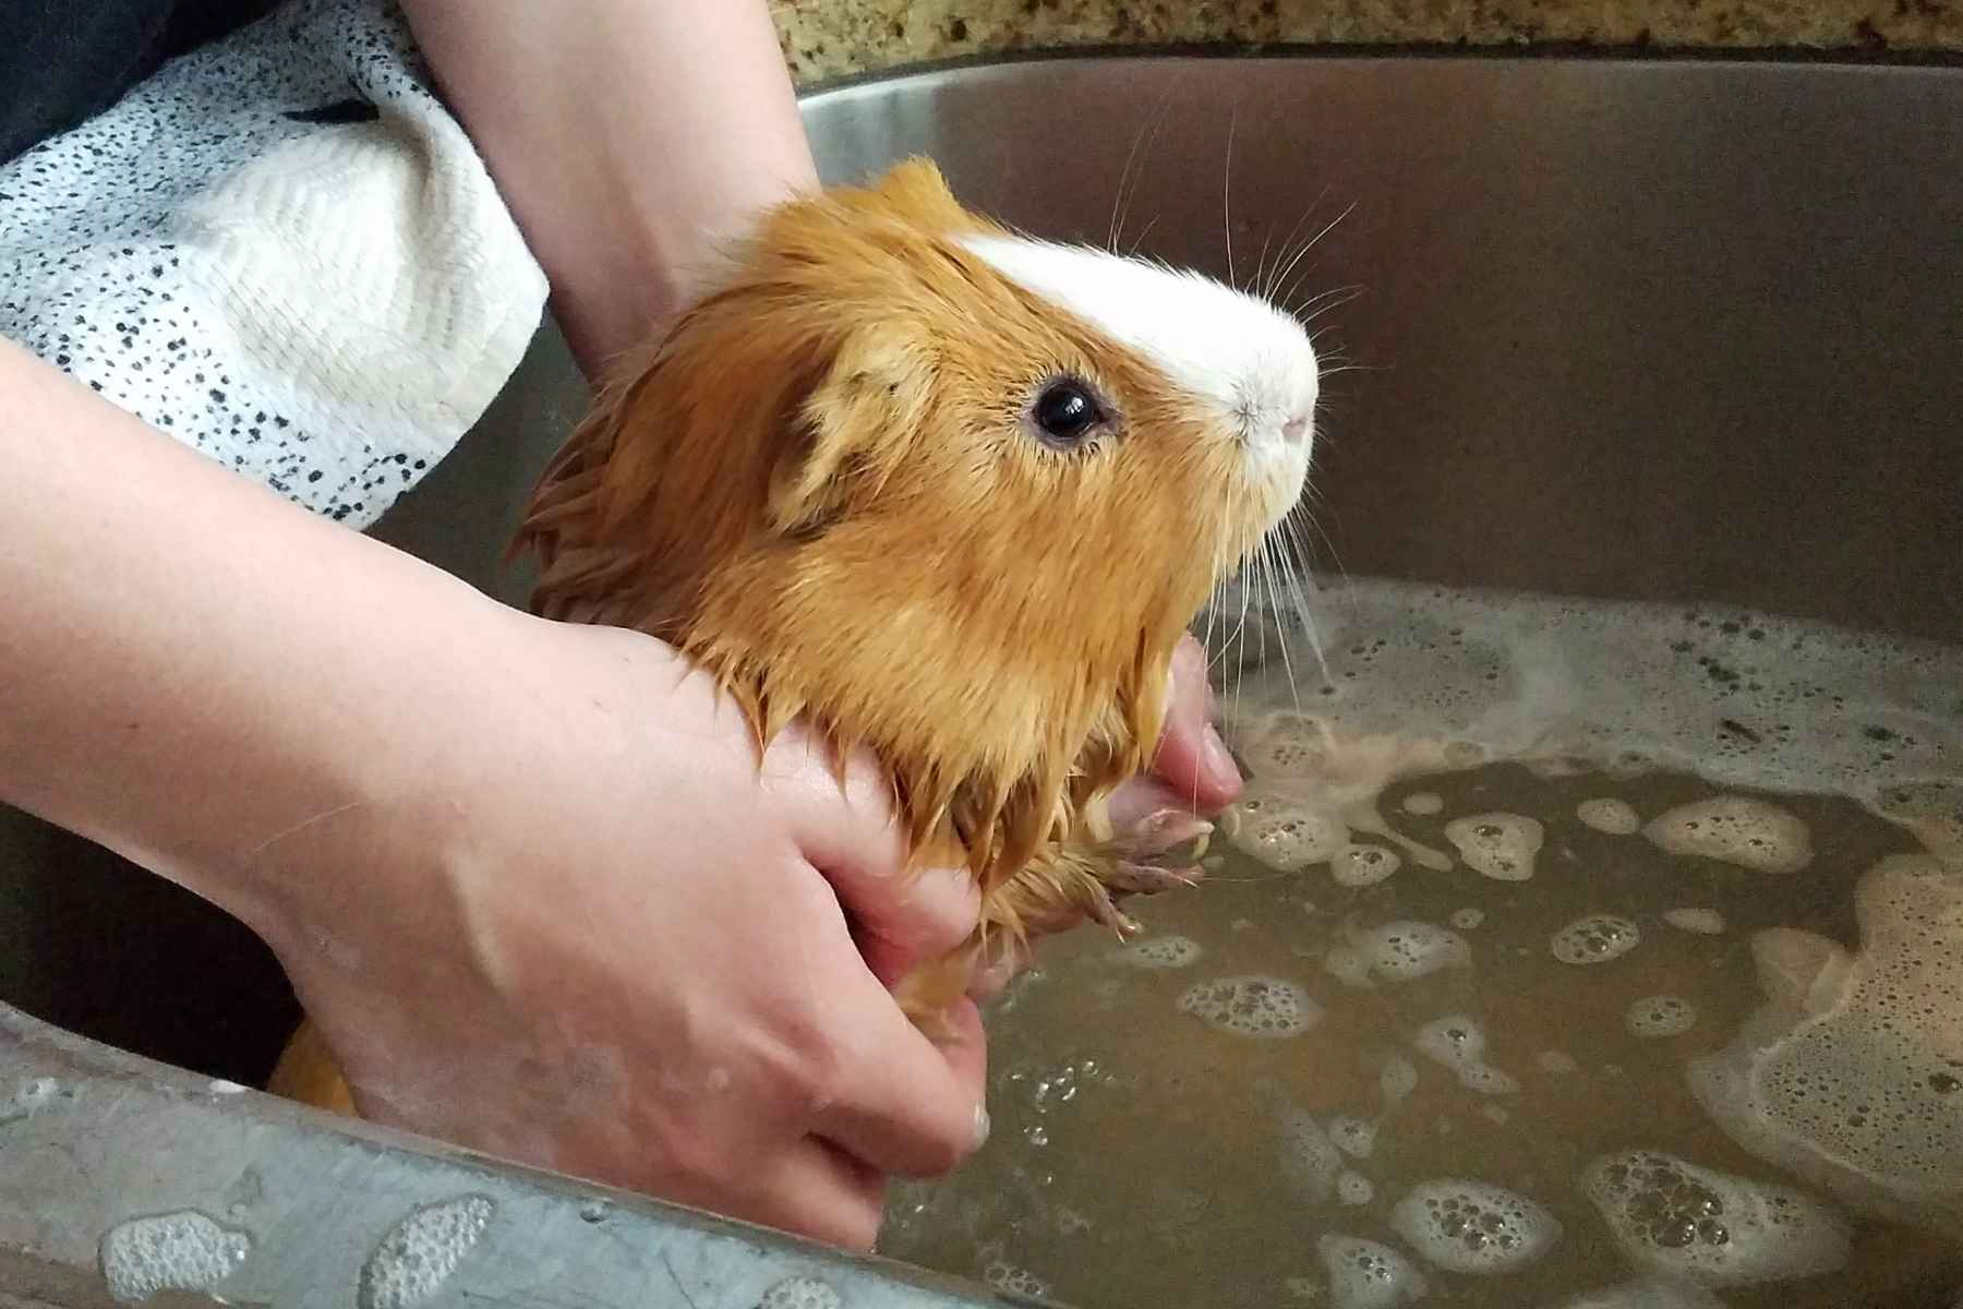
[[[1250,628],[1278,632],[1252,593],[1229,591],[1227,612],[1243,599]],[[1623,775],[1663,767],[1720,787],[1851,795],[1877,812],[1883,795],[1949,785],[1959,767],[1963,648],[1745,610],[1388,579],[1345,585],[1317,630],[1329,681],[1315,716],[1345,736],[1415,732],[1457,744],[1460,759],[1470,748]],[[1268,634],[1252,642],[1278,650]],[[1241,681],[1243,699],[1294,699],[1260,685],[1284,677],[1270,661]],[[1229,736],[1241,726],[1231,718]],[[1912,795],[1916,812],[1884,816],[1926,822],[1953,799]]]

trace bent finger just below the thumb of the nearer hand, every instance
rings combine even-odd
[[[870,977],[840,1005],[858,1040],[850,1085],[813,1117],[813,1132],[864,1164],[907,1178],[952,1172],[987,1138],[985,1038],[974,1001],[948,1011],[944,1048],[927,1038]]]

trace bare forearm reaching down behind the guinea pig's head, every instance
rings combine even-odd
[[[748,214],[817,184],[762,0],[402,10],[589,375],[689,298]]]

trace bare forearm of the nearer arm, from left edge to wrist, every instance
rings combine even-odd
[[[391,703],[491,610],[10,341],[0,597],[0,799],[255,924],[251,852],[408,775]]]

